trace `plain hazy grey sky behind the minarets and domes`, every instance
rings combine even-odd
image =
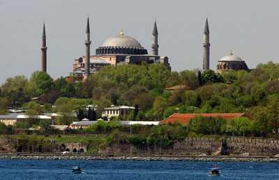
[[[151,54],[154,20],[159,55],[169,58],[172,71],[202,68],[206,16],[210,31],[210,68],[229,54],[246,61],[279,62],[278,0],[0,0],[0,84],[8,77],[27,78],[41,66],[41,37],[45,20],[47,73],[54,80],[73,71],[74,59],[85,54],[89,15],[91,55],[112,36],[137,39]]]

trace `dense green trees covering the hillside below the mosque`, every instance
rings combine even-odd
[[[105,66],[86,81],[75,84],[62,77],[53,80],[47,73],[36,71],[29,80],[19,75],[2,84],[0,114],[7,114],[8,107],[28,110],[27,114],[59,112],[63,116],[57,118],[57,123],[69,124],[85,117],[96,120],[110,105],[137,106],[137,112],[131,112],[127,118],[139,121],[158,121],[176,112],[248,112],[253,117],[251,124],[246,122],[248,127],[234,130],[235,134],[273,136],[278,135],[278,78],[279,64],[273,62],[259,64],[251,72],[240,70],[221,74],[213,70],[169,72],[164,65],[146,63]],[[180,84],[186,84],[191,90],[163,91]],[[36,100],[30,101],[33,98]],[[98,105],[98,108],[89,110],[87,105]],[[76,112],[77,117],[73,117],[72,112]],[[199,126],[207,120],[216,126],[207,127],[205,132]],[[227,132],[228,128],[224,128],[220,120],[207,120],[195,125],[193,119],[190,123],[193,133],[222,135]]]

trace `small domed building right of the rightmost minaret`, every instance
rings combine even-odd
[[[216,72],[223,73],[229,70],[250,71],[245,61],[243,61],[240,57],[232,54],[232,51],[229,53],[229,56],[225,56],[218,61]]]

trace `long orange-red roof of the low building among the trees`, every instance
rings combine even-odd
[[[201,114],[179,114],[175,113],[171,116],[167,117],[163,121],[160,121],[160,124],[163,123],[175,123],[178,121],[179,123],[189,123],[190,119],[196,117],[196,116],[202,116],[202,117],[223,117],[225,119],[232,119],[235,117],[247,117],[248,119],[252,119],[248,114],[246,113],[201,113]]]

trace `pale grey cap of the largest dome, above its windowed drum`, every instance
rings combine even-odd
[[[105,40],[102,47],[142,47],[142,45],[134,38],[119,35]]]

